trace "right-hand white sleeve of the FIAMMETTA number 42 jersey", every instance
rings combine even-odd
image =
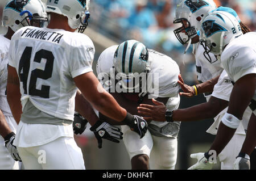
[[[77,43],[80,43],[80,45],[73,46],[70,50],[71,58],[69,59],[69,71],[72,78],[88,73],[89,71],[93,71],[92,62],[95,48],[92,40],[88,37],[88,39],[80,42]]]

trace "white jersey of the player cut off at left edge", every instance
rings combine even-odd
[[[0,110],[5,116],[13,116],[6,98],[10,40],[0,35]]]

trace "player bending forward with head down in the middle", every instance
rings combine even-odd
[[[105,49],[98,58],[96,69],[105,89],[131,113],[137,113],[137,106],[141,103],[152,104],[152,97],[163,102],[168,109],[179,107],[179,66],[171,57],[147,49],[139,41],[127,40]],[[139,75],[144,75],[141,81]],[[146,89],[151,83],[152,89]],[[99,116],[117,124],[101,113]],[[152,120],[148,125],[149,132],[142,139],[127,125],[121,125],[131,169],[175,169],[180,123],[168,121]]]

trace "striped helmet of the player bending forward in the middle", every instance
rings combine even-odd
[[[142,82],[139,77],[141,73],[147,76],[150,70],[148,50],[145,45],[137,40],[121,43],[114,54],[114,68],[117,80],[122,84],[123,89],[128,92],[141,92]]]

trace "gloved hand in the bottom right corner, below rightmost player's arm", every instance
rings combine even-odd
[[[234,170],[250,170],[250,156],[246,153],[238,154],[233,165]]]

